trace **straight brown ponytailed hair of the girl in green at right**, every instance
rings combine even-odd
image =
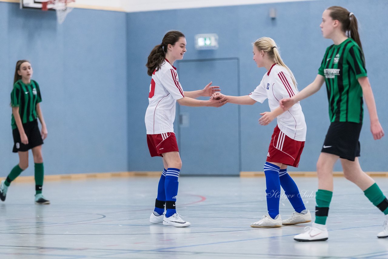
[[[359,45],[362,51],[359,26],[355,15],[341,6],[331,6],[327,8],[327,10],[330,10],[329,15],[331,19],[340,21],[342,24],[342,31],[345,32],[346,36],[352,38],[357,43],[357,45]],[[364,52],[362,53],[362,55],[364,55]]]

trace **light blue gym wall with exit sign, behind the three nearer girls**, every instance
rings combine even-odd
[[[360,34],[364,47],[369,80],[374,91],[380,122],[388,132],[386,103],[386,68],[384,54],[388,35],[388,2],[386,0],[317,0],[307,2],[272,3],[183,10],[163,10],[127,14],[128,35],[128,146],[130,170],[160,170],[161,160],[151,158],[145,140],[144,113],[147,108],[150,77],[145,63],[151,49],[161,42],[168,30],[182,31],[187,40],[184,59],[211,59],[237,57],[240,59],[241,94],[249,94],[265,73],[256,68],[252,60],[251,43],[267,36],[275,39],[282,58],[291,68],[303,89],[312,82],[322,61],[325,49],[331,40],[323,39],[319,24],[324,9],[341,5],[355,13],[360,22]],[[277,18],[271,20],[268,12],[276,8]],[[217,33],[219,49],[198,51],[194,49],[194,35]],[[200,75],[192,75],[193,77]],[[182,80],[182,78],[180,78]],[[187,79],[186,79],[187,80]],[[184,89],[185,86],[183,85]],[[222,86],[221,86],[222,87]],[[192,90],[192,89],[190,89]],[[225,92],[225,94],[228,94]],[[227,104],[234,105],[234,104]],[[325,85],[314,96],[301,102],[307,122],[307,141],[301,156],[300,166],[293,171],[315,171],[315,164],[329,126]],[[196,109],[196,108],[192,108]],[[257,103],[241,107],[241,159],[242,171],[262,171],[268,144],[275,122],[268,126],[257,123],[258,113],[268,111],[268,104]],[[222,107],[219,108],[222,113]],[[365,171],[386,171],[387,137],[374,141],[370,133],[367,111],[362,129],[360,162]],[[203,114],[206,116],[206,113]],[[202,130],[202,129],[197,129]],[[222,132],[228,141],[227,129]],[[198,145],[208,145],[195,140]],[[222,143],[217,143],[222,148]],[[186,151],[187,153],[187,151]],[[192,154],[195,156],[195,154]],[[211,158],[210,158],[211,159]],[[228,158],[225,158],[228,159]],[[215,161],[217,163],[222,161]],[[200,168],[201,165],[198,165]],[[183,167],[184,169],[184,167]],[[202,170],[211,170],[202,169]],[[334,170],[340,171],[337,164]],[[238,172],[236,172],[238,173]]]

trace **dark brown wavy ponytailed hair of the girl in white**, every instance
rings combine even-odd
[[[160,66],[165,61],[168,44],[175,45],[181,37],[185,37],[180,31],[168,31],[163,37],[162,43],[156,45],[148,56],[147,64],[145,65],[148,70],[147,74],[152,76],[154,70],[158,71]]]

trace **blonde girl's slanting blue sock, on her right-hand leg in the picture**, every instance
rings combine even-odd
[[[298,213],[305,210],[305,204],[300,196],[298,186],[287,173],[287,169],[280,169],[279,171],[280,185],[284,189],[284,193],[287,195],[288,200],[290,201],[294,210]]]

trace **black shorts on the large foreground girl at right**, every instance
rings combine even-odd
[[[321,152],[354,161],[360,156],[360,132],[362,123],[332,122],[327,130]]]

